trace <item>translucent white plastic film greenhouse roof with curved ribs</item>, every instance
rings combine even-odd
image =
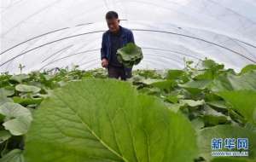
[[[236,70],[256,62],[255,0],[1,0],[0,72],[101,67],[109,10],[143,49],[135,68],[183,68],[184,58]]]

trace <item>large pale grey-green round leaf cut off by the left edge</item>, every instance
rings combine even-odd
[[[32,121],[32,114],[26,107],[7,102],[0,106],[0,113],[5,116],[5,130],[9,130],[15,136],[26,134]]]

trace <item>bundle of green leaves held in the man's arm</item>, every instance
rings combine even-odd
[[[117,58],[125,67],[132,67],[143,60],[143,51],[135,43],[127,43],[125,47],[118,49]]]

